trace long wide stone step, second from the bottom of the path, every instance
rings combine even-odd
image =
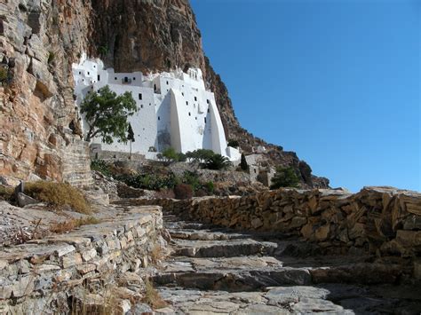
[[[274,257],[188,258],[166,262],[153,276],[158,286],[202,290],[252,291],[265,287],[320,283],[395,283],[401,276],[397,264],[346,264],[290,267]]]

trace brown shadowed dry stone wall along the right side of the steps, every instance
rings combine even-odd
[[[238,230],[295,234],[326,252],[396,257],[421,276],[421,193],[392,187],[280,189],[245,197],[147,201],[163,209]]]

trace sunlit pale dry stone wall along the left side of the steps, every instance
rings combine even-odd
[[[67,312],[68,298],[86,283],[99,286],[146,267],[162,229],[159,207],[130,207],[112,221],[4,248],[0,313]]]

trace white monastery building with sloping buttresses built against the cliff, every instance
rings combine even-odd
[[[226,146],[226,137],[214,94],[206,91],[202,71],[190,68],[171,73],[142,75],[141,72],[115,73],[104,68],[99,59],[82,57],[73,65],[76,104],[91,91],[108,85],[115,93],[131,92],[138,112],[128,118],[135,135],[132,152],[154,158],[156,152],[167,147],[187,153],[197,149],[210,149],[217,154],[238,161],[239,151]],[[87,130],[83,122],[83,130]],[[94,138],[92,144],[101,144]],[[129,152],[129,144],[114,141],[101,144],[102,150]]]

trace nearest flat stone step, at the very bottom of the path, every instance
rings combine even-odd
[[[419,314],[421,311],[421,297],[412,287],[391,285],[325,284],[234,293],[159,287],[158,292],[171,304],[174,313],[186,314]]]

